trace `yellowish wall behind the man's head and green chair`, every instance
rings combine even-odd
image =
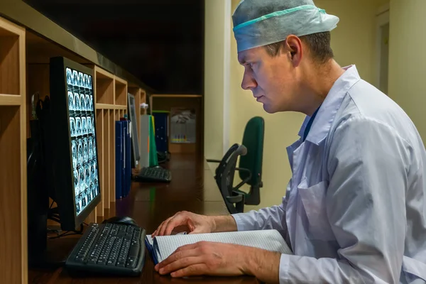
[[[422,1],[422,0],[419,0]],[[239,0],[232,0],[232,12]],[[339,16],[340,23],[332,31],[332,48],[340,65],[356,64],[361,77],[376,82],[376,11],[385,0],[316,0],[327,13]],[[241,89],[244,69],[237,60],[236,42],[231,34],[231,94],[229,98],[230,143],[241,143],[246,122],[263,116],[266,132],[263,152],[263,189],[261,204],[245,210],[279,204],[291,177],[285,147],[297,138],[304,115],[293,112],[266,114],[249,91]],[[208,131],[205,129],[205,131]]]

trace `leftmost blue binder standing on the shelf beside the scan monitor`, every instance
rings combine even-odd
[[[124,127],[122,121],[116,121],[116,199],[123,197],[124,170]]]

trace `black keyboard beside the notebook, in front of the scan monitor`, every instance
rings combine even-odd
[[[146,231],[124,224],[89,225],[72,249],[65,267],[117,275],[139,275],[145,263]]]

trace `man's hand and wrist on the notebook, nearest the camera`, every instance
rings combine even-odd
[[[192,275],[254,275],[268,283],[278,283],[280,253],[249,246],[200,241],[181,246],[155,266],[160,274],[172,277]]]

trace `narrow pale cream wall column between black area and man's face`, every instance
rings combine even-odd
[[[204,156],[220,159],[229,143],[230,0],[205,0],[204,28]],[[212,165],[217,166],[217,165]]]

